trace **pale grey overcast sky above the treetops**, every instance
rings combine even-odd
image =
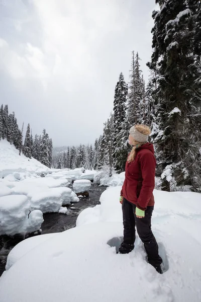
[[[154,0],[2,0],[0,95],[19,125],[54,146],[93,143],[132,50],[145,79]],[[1,104],[0,104],[1,105]]]

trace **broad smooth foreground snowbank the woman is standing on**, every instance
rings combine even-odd
[[[116,254],[120,190],[108,188],[100,205],[80,213],[76,228],[17,245],[0,279],[1,302],[200,301],[201,194],[154,190],[152,230],[167,269],[160,275],[138,237],[132,253]]]

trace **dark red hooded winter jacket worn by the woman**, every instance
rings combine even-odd
[[[136,149],[135,160],[126,162],[125,181],[121,196],[137,205],[141,210],[154,205],[156,160],[152,143],[145,143]]]

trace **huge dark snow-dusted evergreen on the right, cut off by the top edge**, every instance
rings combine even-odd
[[[153,54],[157,71],[158,127],[155,138],[162,190],[191,185],[201,191],[200,1],[156,0]],[[156,69],[157,67],[157,69]]]

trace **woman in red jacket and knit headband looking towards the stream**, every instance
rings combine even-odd
[[[133,145],[133,148],[126,162],[125,181],[120,194],[124,241],[119,252],[127,254],[134,249],[136,226],[147,252],[148,263],[153,265],[157,272],[162,273],[162,259],[158,254],[158,244],[151,231],[156,160],[153,144],[147,142],[150,133],[146,125],[135,125],[130,129],[129,144]]]

